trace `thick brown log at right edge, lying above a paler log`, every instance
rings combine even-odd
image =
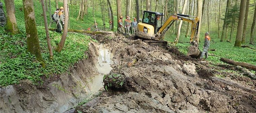
[[[246,63],[246,62],[236,62],[236,61],[233,61],[233,60],[227,59],[227,58],[220,58],[220,60],[222,62],[226,62],[226,63],[231,64],[231,65],[242,66],[242,67],[246,67],[246,68],[249,68],[249,69],[252,69],[252,70],[256,70],[255,65],[252,65],[252,64],[249,64],[249,63]]]

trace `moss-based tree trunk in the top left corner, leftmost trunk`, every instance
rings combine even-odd
[[[15,35],[19,33],[15,17],[15,6],[14,0],[4,0],[6,14],[7,14],[7,25],[6,30],[11,34]]]

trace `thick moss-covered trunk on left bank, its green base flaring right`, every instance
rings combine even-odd
[[[28,44],[28,52],[34,54],[39,62],[42,62],[45,68],[44,60],[41,55],[39,39],[36,29],[35,12],[33,0],[23,0],[25,28]]]

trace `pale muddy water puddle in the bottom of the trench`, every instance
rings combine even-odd
[[[103,48],[103,45],[99,45],[99,57],[98,62],[95,64],[96,68],[98,69],[99,75],[95,75],[92,78],[92,81],[89,86],[91,92],[97,92],[101,88],[103,88],[103,76],[104,74],[109,73],[113,68],[110,66],[114,63],[113,54],[108,51],[108,49]]]

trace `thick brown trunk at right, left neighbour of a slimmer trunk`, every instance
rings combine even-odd
[[[242,35],[243,35],[243,24],[245,19],[245,7],[246,7],[246,0],[241,0],[235,45],[234,45],[235,47],[241,47]]]

